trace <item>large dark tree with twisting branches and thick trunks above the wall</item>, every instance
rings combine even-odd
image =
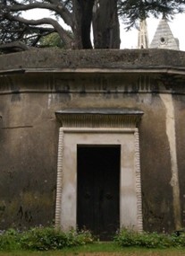
[[[119,49],[119,16],[130,29],[150,15],[173,17],[184,7],[185,0],[1,0],[0,49],[18,41],[38,47],[40,40],[53,32],[58,33],[66,49],[92,49],[92,44],[96,49]],[[22,16],[22,12],[34,9],[41,13],[46,9],[53,15],[38,19]],[[71,33],[63,28],[64,23]]]

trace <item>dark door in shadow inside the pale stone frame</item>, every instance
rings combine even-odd
[[[111,240],[119,228],[120,146],[78,146],[77,224]]]

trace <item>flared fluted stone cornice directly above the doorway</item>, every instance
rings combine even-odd
[[[63,128],[136,128],[140,110],[60,110],[55,112]]]

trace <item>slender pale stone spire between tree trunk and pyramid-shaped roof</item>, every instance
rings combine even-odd
[[[147,21],[143,20],[139,22],[138,49],[147,49],[147,48],[148,48]]]

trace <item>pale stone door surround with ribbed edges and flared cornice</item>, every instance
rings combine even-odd
[[[77,147],[121,146],[120,227],[142,231],[139,110],[61,110],[55,225],[77,226]]]

